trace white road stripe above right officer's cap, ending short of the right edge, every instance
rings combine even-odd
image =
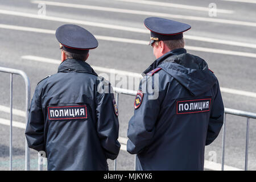
[[[163,6],[163,7],[175,7],[179,9],[196,10],[196,11],[207,11],[207,12],[209,11],[209,7],[181,5],[181,4],[168,3],[168,2],[156,2],[156,1],[144,1],[144,0],[114,0],[114,1],[132,2],[132,3],[140,3],[144,5]],[[217,13],[233,14],[234,11],[217,9]]]

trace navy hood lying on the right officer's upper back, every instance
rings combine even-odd
[[[164,56],[158,67],[174,77],[193,96],[207,92],[217,81],[203,59],[186,51],[178,55],[172,53],[167,58]]]

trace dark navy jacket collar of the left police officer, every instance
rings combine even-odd
[[[76,59],[64,60],[58,68],[58,72],[79,72],[79,73],[91,73],[97,76],[93,68],[88,63]]]

